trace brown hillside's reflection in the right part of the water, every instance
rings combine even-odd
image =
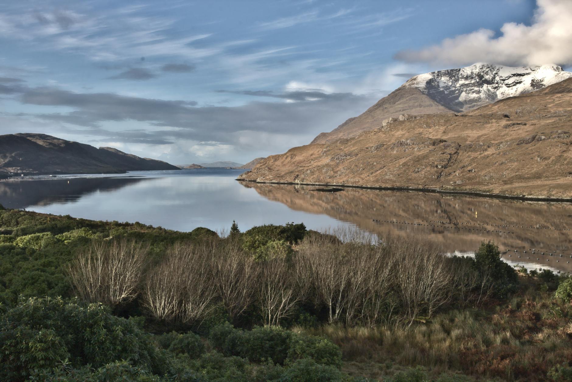
[[[569,203],[356,188],[323,193],[312,192],[311,186],[241,184],[291,209],[324,213],[382,236],[415,236],[438,242],[450,253],[474,251],[483,240],[491,240],[507,251],[506,260],[572,271]]]

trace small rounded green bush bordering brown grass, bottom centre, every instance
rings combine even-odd
[[[323,337],[293,333],[288,342],[288,363],[309,358],[321,365],[341,367],[341,349]]]

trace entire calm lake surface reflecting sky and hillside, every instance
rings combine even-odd
[[[312,186],[236,181],[241,172],[211,168],[33,177],[0,182],[0,203],[182,231],[204,226],[228,232],[233,220],[241,230],[285,222],[304,222],[316,230],[345,225],[436,241],[456,254],[492,240],[511,264],[572,271],[569,203],[355,188],[320,192]]]

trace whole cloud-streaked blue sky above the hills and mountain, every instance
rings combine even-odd
[[[545,47],[547,26],[570,42],[553,27],[570,21],[554,21],[570,10],[556,0],[0,5],[2,134],[46,133],[174,164],[247,162],[308,144],[414,74],[572,61],[560,46],[542,58],[507,49],[511,33]]]

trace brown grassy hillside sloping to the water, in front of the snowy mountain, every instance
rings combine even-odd
[[[572,197],[572,79],[456,116],[288,150],[244,180]]]

